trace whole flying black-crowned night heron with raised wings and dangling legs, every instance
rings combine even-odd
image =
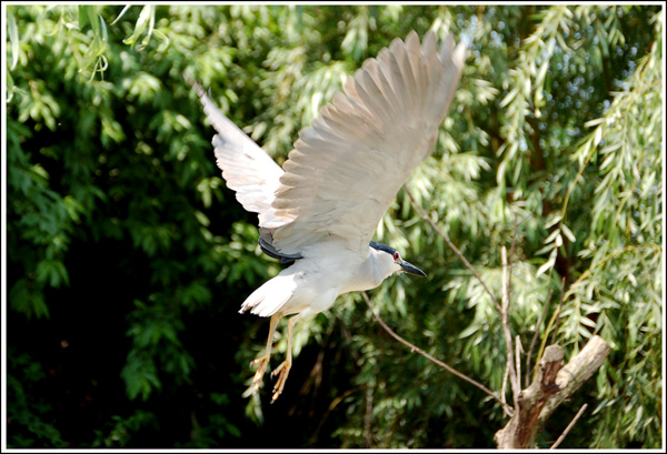
[[[375,289],[396,272],[426,275],[394,248],[370,241],[382,214],[415,168],[434,150],[454,98],[465,47],[436,33],[424,43],[415,31],[395,39],[345,83],[345,94],[320,110],[299,132],[282,169],[197,89],[218,132],[212,144],[228,188],[248,211],[259,213],[259,245],[291,263],[241,305],[270,316],[265,353],[249,392],[257,392],[271,356],[278,321],[287,323],[287,359],[273,402],[292,364],[295,323],[330,307],[342,293]]]

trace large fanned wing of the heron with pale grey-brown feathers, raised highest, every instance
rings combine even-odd
[[[345,94],[299,133],[272,208],[291,222],[270,229],[281,253],[337,236],[367,251],[377,225],[415,168],[432,151],[464,65],[451,37],[437,48],[414,31],[367,60]]]

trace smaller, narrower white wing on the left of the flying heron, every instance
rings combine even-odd
[[[280,176],[285,173],[282,169],[225,117],[199,83],[188,75],[186,80],[197,90],[203,112],[218,132],[213,135],[212,144],[227,186],[236,191],[237,200],[246,210],[259,213],[259,226],[277,228],[291,222],[289,216],[277,216],[271,208]]]

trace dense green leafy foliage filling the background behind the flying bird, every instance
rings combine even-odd
[[[566,360],[593,334],[613,346],[538,445],[587,402],[564,447],[660,446],[658,7],[10,6],[7,19],[10,447],[495,445],[499,405],[388,337],[357,294],[297,325],[276,405],[268,379],[241,398],[268,322],[237,311],[279,265],[182,78],[282,163],[366,58],[429,28],[469,50],[410,192],[496,295],[514,245],[525,351],[546,326]],[[372,291],[381,316],[499,392],[494,304],[404,191],[377,238],[429,275]]]

